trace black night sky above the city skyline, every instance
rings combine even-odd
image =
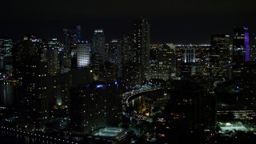
[[[91,40],[102,28],[106,40],[133,31],[140,16],[150,22],[151,43],[210,43],[210,34],[232,34],[234,26],[256,31],[255,0],[6,0],[0,4],[0,34],[26,32],[64,39],[63,28],[82,26]]]

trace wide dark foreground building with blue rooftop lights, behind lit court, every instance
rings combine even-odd
[[[70,90],[70,120],[74,134],[90,134],[116,126],[121,114],[118,82],[90,82]]]

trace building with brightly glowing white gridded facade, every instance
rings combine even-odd
[[[89,66],[90,64],[90,43],[77,43],[77,64],[78,67]]]

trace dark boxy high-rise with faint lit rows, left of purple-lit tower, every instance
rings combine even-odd
[[[210,75],[214,78],[229,78],[230,35],[213,34],[209,53]]]

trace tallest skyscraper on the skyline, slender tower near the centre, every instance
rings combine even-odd
[[[134,62],[140,66],[139,82],[142,83],[150,69],[150,24],[146,18],[134,22]]]

